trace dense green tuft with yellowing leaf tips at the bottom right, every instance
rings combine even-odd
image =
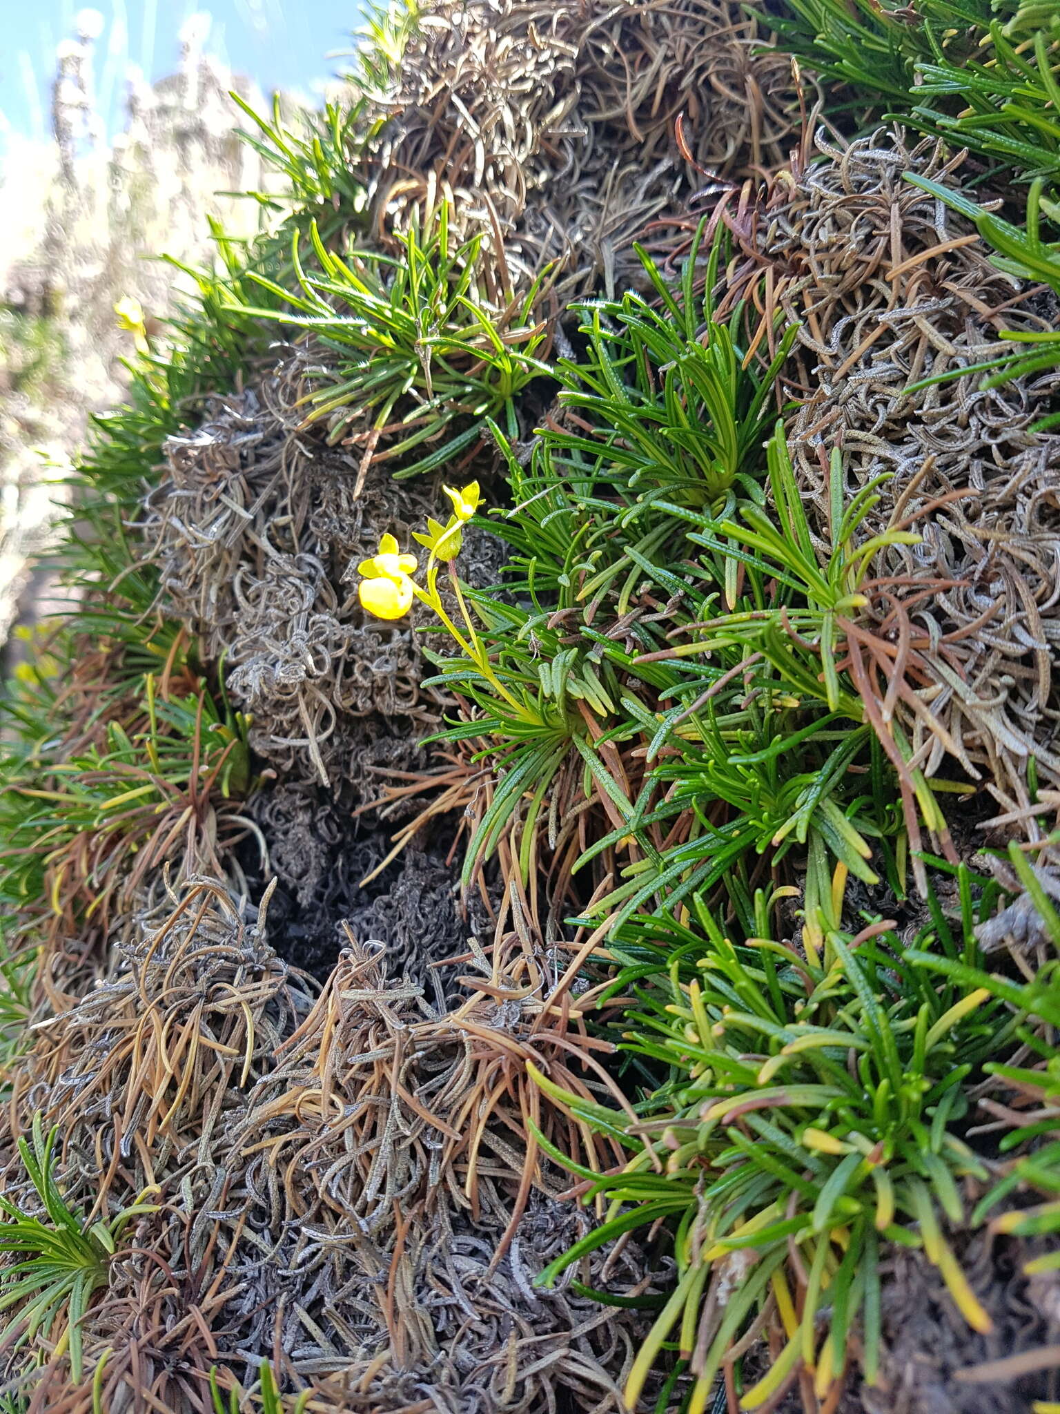
[[[787,1343],[745,1389],[742,1408],[765,1403],[799,1362],[823,1398],[855,1328],[875,1383],[885,1243],[923,1249],[968,1324],[991,1328],[946,1237],[989,1206],[972,1215],[964,1188],[991,1181],[962,1137],[968,1083],[1060,1019],[1057,964],[1023,984],[985,970],[974,929],[996,885],[965,867],[960,916],[933,899],[934,925],[912,945],[886,921],[858,933],[840,926],[844,875],[840,865],[804,949],[775,932],[777,896],[765,891],[758,929],[735,940],[700,896],[680,918],[661,911],[618,929],[612,990],[630,993],[619,1045],[657,1075],[636,1123],[538,1075],[555,1100],[625,1133],[633,1151],[620,1172],[575,1171],[584,1200],[602,1196],[606,1217],[541,1280],[633,1227],[661,1220],[673,1233],[677,1284],[630,1373],[630,1404],[673,1342],[695,1377],[687,1410],[705,1408],[728,1348],[767,1299]],[[1047,1209],[1039,1230],[1052,1220]]]

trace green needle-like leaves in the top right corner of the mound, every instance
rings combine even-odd
[[[1053,7],[1033,0],[927,0],[910,13],[878,0],[784,0],[782,11],[780,42],[838,82],[852,105],[872,105],[981,158],[970,185],[996,192],[987,209],[971,192],[921,185],[975,223],[1001,270],[1060,293],[1057,245],[1042,236],[1043,219],[1060,222],[1060,31]],[[1022,208],[1022,222],[998,214],[998,205],[1009,215]],[[944,376],[998,370],[985,383],[998,387],[1060,362],[1049,328],[1001,337],[1030,346],[999,351]],[[1052,426],[1054,414],[1036,424]]]

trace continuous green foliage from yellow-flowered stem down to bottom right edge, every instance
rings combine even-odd
[[[632,1227],[674,1225],[678,1284],[630,1370],[629,1406],[664,1349],[680,1355],[674,1380],[681,1369],[694,1377],[683,1408],[708,1407],[722,1366],[741,1408],[807,1377],[813,1397],[834,1401],[855,1331],[862,1379],[881,1379],[888,1244],[923,1250],[971,1331],[992,1329],[946,1233],[981,1225],[1013,1182],[1039,1182],[1043,1169],[1030,1158],[994,1184],[996,1168],[964,1137],[964,1082],[1026,1080],[991,1058],[1030,1038],[1052,1053],[1054,962],[1025,986],[984,970],[975,935],[996,885],[957,867],[938,805],[947,782],[910,765],[886,697],[866,690],[871,570],[920,534],[900,518],[865,534],[885,481],[849,498],[834,451],[827,534],[813,536],[783,428],[762,447],[762,409],[791,339],[760,382],[741,376],[743,311],[717,324],[709,296],[693,297],[694,259],[674,291],[644,263],[660,307],[647,312],[630,294],[584,311],[587,352],[557,369],[555,417],[526,465],[507,448],[514,503],[499,526],[516,550],[516,605],[465,597],[454,578],[458,629],[438,601],[438,550],[457,556],[448,542],[471,510],[457,492],[449,525],[417,536],[432,551],[428,588],[393,542],[362,566],[362,602],[390,617],[418,597],[461,649],[438,658],[441,680],[472,707],[448,737],[481,738],[497,771],[465,878],[505,829],[522,840],[524,871],[543,853],[534,834],[560,847],[555,817],[579,795],[606,823],[574,871],[605,857],[608,880],[625,878],[595,888],[581,916],[599,923],[594,940],[620,969],[608,995],[633,993],[616,1031],[642,1058],[628,1072],[642,1077],[637,1118],[531,1073],[588,1127],[623,1131],[635,1158],[606,1175],[567,1164],[587,1200],[606,1200],[606,1220],[543,1280]],[[758,441],[741,440],[741,417],[750,427],[760,417]],[[900,690],[895,682],[892,701]],[[530,741],[520,713],[534,717]],[[536,738],[548,725],[546,755]],[[950,863],[926,855],[924,827]],[[796,850],[804,867],[791,872]],[[955,872],[955,919],[929,884],[929,860]],[[882,875],[903,898],[910,864],[931,928],[910,946],[864,908],[865,926],[851,928],[848,882],[876,887]],[[800,880],[790,892],[801,896],[801,946],[775,928],[783,880]],[[1027,1143],[1023,1127],[1008,1148]],[[1040,1233],[1049,1212],[999,1230]],[[783,1345],[745,1380],[742,1332],[769,1322]]]

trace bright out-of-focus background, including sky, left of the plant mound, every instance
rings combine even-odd
[[[187,277],[147,253],[209,263],[209,216],[236,235],[260,221],[254,202],[223,195],[264,182],[229,90],[254,106],[273,90],[288,107],[318,103],[360,16],[358,0],[6,7],[0,645],[51,607],[33,556],[88,417],[122,399],[131,345],[114,303],[131,296],[164,317]]]

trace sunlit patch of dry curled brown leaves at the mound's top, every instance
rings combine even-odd
[[[787,160],[799,92],[763,37],[725,0],[431,0],[384,105],[373,229],[449,199],[517,286],[551,264],[560,301],[612,294],[642,276],[633,240],[694,226],[704,184]]]

